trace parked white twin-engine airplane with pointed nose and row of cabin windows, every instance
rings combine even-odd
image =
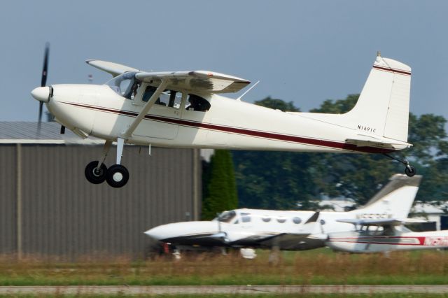
[[[328,234],[349,232],[342,219],[407,218],[421,176],[395,174],[370,201],[349,212],[237,209],[211,221],[175,222],[145,232],[178,250],[211,247],[307,250],[325,246]],[[314,224],[314,222],[318,225]]]

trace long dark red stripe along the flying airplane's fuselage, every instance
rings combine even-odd
[[[64,104],[69,104],[71,106],[78,106],[80,108],[89,108],[97,111],[102,111],[105,113],[115,113],[118,115],[125,115],[129,117],[137,117],[139,113],[135,113],[132,111],[123,111],[123,110],[113,110],[111,108],[104,108],[101,106],[87,106],[83,104],[74,104],[69,102],[64,102]],[[328,141],[328,140],[318,140],[318,139],[309,139],[305,138],[303,136],[289,136],[286,134],[276,134],[273,132],[260,132],[256,130],[251,129],[244,129],[239,127],[226,127],[221,125],[212,125],[209,123],[204,122],[194,122],[190,120],[182,120],[182,119],[176,119],[176,118],[166,118],[166,117],[160,117],[155,115],[145,115],[144,117],[147,120],[154,120],[159,122],[166,122],[169,124],[174,125],[182,125],[186,127],[196,127],[200,129],[209,129],[209,130],[216,130],[218,132],[228,132],[230,134],[241,134],[244,136],[253,136],[258,137],[262,139],[272,139],[275,141],[286,141],[290,143],[304,143],[307,145],[312,146],[321,146],[321,147],[329,147],[329,148],[337,148],[341,150],[350,150],[350,151],[356,151],[356,152],[366,152],[366,153],[387,153],[387,152],[393,152],[395,150],[385,149],[385,148],[377,148],[377,147],[358,147],[355,144],[351,143],[341,143],[337,141]]]

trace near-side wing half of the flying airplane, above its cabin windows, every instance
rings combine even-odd
[[[135,77],[155,86],[166,79],[167,89],[207,93],[238,92],[251,83],[242,78],[212,71],[139,72]]]

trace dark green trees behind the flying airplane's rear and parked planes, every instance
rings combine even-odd
[[[357,100],[358,94],[326,100],[311,112],[346,113]],[[255,104],[281,111],[300,111],[293,102],[270,97]],[[419,200],[447,197],[446,122],[440,115],[409,114],[408,141],[414,146],[402,151],[402,157],[409,159],[418,174],[423,175],[417,194]],[[223,161],[218,162],[220,159]],[[322,197],[347,197],[361,205],[387,183],[390,176],[404,170],[402,164],[384,155],[233,150],[232,159],[237,195],[232,190],[235,180],[230,152],[217,150],[209,167],[204,168],[204,218],[237,206],[284,209],[297,208],[299,204],[301,208],[316,208],[314,201]],[[222,164],[223,169],[216,170],[215,164]]]

